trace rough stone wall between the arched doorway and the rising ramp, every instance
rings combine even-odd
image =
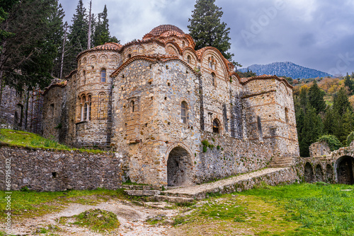
[[[244,141],[207,131],[202,133],[201,139],[214,148],[203,152],[203,146],[200,147],[195,163],[198,184],[260,170],[268,165],[273,155],[271,148],[259,141]]]

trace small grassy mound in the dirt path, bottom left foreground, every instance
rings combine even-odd
[[[60,218],[64,223],[66,220]],[[110,212],[101,209],[91,209],[89,211],[84,211],[79,215],[72,216],[76,221],[74,225],[79,225],[81,227],[89,227],[96,232],[111,231],[119,227],[120,222],[117,216]]]

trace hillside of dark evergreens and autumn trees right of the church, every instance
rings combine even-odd
[[[354,73],[292,83],[300,155],[309,156],[309,146],[321,137],[337,148],[348,146],[354,134],[349,136],[354,131]]]

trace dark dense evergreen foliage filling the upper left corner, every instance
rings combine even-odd
[[[1,39],[0,78],[6,84],[21,90],[50,83],[56,50],[50,17],[55,4],[54,0],[19,1],[1,22],[1,29],[11,32]]]

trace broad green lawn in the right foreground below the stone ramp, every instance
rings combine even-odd
[[[353,189],[353,191],[341,191]],[[293,184],[226,194],[191,206],[185,235],[354,235],[354,186]],[[198,232],[198,233],[197,233]]]

